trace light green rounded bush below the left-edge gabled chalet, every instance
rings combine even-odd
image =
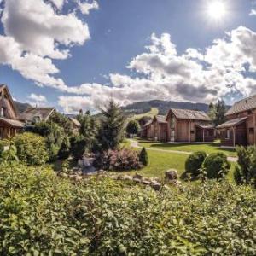
[[[20,161],[28,165],[40,166],[49,160],[44,137],[25,132],[15,136],[14,142]]]

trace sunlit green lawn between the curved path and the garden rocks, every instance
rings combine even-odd
[[[148,150],[149,165],[139,171],[125,172],[129,175],[133,175],[136,172],[142,174],[143,177],[165,177],[165,172],[168,169],[176,169],[179,176],[185,170],[185,161],[188,155],[186,154],[174,154],[168,152],[157,152]],[[233,180],[235,164],[232,164],[230,173],[228,175],[229,180]]]

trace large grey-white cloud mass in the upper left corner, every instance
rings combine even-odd
[[[62,1],[63,2],[63,1]],[[55,1],[61,6],[61,1]],[[69,91],[53,59],[66,59],[74,44],[90,38],[87,24],[71,13],[57,15],[43,0],[5,1],[0,35],[0,63],[9,65],[36,84]],[[61,48],[60,48],[61,46]]]

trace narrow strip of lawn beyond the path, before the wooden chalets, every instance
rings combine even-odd
[[[222,152],[228,156],[236,156],[236,150],[220,148],[219,142],[214,143],[192,143],[192,144],[171,144],[157,143],[138,139],[139,145],[145,148],[159,148],[166,150],[177,150],[186,152],[205,151],[207,154]]]

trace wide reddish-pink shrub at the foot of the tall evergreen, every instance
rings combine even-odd
[[[95,166],[108,171],[130,171],[142,167],[137,152],[127,148],[103,152],[96,159]]]

